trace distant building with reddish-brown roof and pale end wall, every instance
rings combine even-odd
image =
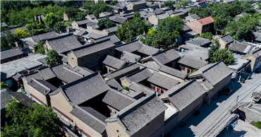
[[[210,16],[205,18],[200,18],[187,23],[187,25],[195,32],[211,32],[214,28],[214,19]]]

